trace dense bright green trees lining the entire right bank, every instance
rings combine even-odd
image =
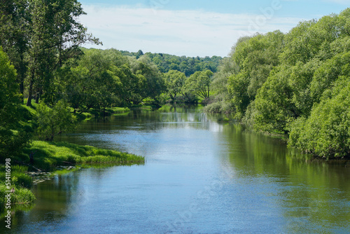
[[[215,75],[207,110],[289,136],[316,156],[350,156],[350,8],[239,39]],[[225,87],[225,88],[223,88]]]

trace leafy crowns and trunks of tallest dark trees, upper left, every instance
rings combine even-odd
[[[77,0],[13,0],[0,4],[0,46],[18,70],[19,92],[27,105],[36,96],[53,104],[55,71],[80,54],[83,43],[100,43],[78,22]]]

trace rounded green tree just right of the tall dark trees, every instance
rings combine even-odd
[[[106,108],[117,103],[120,93],[120,68],[123,63],[116,50],[84,50],[78,66],[71,68],[66,85],[66,99],[73,108]],[[122,61],[120,61],[122,60]]]

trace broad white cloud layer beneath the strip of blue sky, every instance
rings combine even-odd
[[[280,29],[288,32],[300,19],[166,11],[152,8],[83,6],[80,22],[104,43],[103,48],[186,56],[226,56],[239,36]],[[86,45],[90,47],[91,45]]]

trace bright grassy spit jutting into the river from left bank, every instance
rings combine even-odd
[[[24,150],[22,160],[29,163],[29,153],[34,151],[34,166],[42,170],[52,171],[59,165],[83,164],[143,164],[144,157],[130,153],[99,149],[92,146],[79,146],[67,142],[34,141]]]

